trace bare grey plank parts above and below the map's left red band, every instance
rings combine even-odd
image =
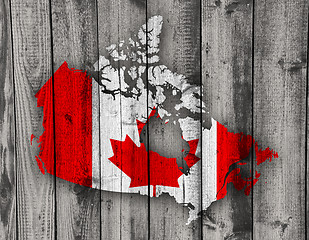
[[[98,58],[96,2],[52,1],[51,10],[54,71],[67,61],[69,68],[91,72]],[[93,101],[97,92],[93,85]],[[57,178],[56,197],[57,238],[100,238],[99,191]]]

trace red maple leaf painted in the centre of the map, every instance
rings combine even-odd
[[[155,114],[153,110],[149,117]],[[146,123],[136,120],[139,133]],[[158,153],[149,151],[149,171],[148,171],[148,152],[145,145],[141,143],[138,147],[127,135],[125,141],[111,139],[114,156],[109,160],[131,178],[130,188],[139,186],[154,187],[153,196],[155,196],[156,186],[168,186],[179,188],[178,178],[183,174],[176,163],[176,158],[166,158]],[[197,163],[198,158],[195,153],[198,145],[198,139],[188,141],[190,146],[189,154],[184,158],[191,168]]]

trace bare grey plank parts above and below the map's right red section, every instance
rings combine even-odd
[[[252,5],[251,0],[207,0],[202,4],[203,101],[210,117],[225,125],[230,132],[250,135]],[[209,126],[209,119],[206,122]],[[246,174],[250,175],[248,171]],[[227,185],[227,191],[224,199],[216,201],[203,212],[204,237],[251,239],[251,198],[243,191],[237,191],[233,184]],[[206,202],[207,196],[203,199]]]

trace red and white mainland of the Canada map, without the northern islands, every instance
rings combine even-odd
[[[260,149],[251,136],[229,132],[215,120],[202,132],[194,126],[198,123],[184,121],[181,137],[190,146],[184,157],[190,168],[186,176],[176,158],[146,151],[141,143],[141,131],[156,113],[152,107],[149,110],[146,99],[137,104],[105,94],[87,72],[70,69],[66,62],[36,98],[44,113],[45,131],[36,139],[41,150],[36,161],[43,174],[107,191],[151,197],[166,192],[177,202],[190,203],[195,216],[223,198],[229,182],[249,194],[260,173],[244,176],[242,169],[248,167],[250,172],[252,163],[258,166],[278,157],[269,148]]]

